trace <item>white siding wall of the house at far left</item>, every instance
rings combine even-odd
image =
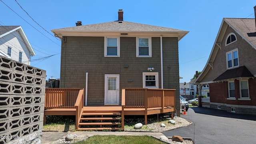
[[[1,38],[0,50],[7,54],[8,47],[12,48],[12,60],[19,61],[19,52],[22,52],[22,63],[30,65],[30,52],[19,32],[15,31]]]

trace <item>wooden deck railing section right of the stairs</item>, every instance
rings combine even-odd
[[[175,89],[123,88],[122,128],[124,128],[124,108],[145,108],[145,124],[148,109],[154,108],[164,113],[165,108],[175,108]]]

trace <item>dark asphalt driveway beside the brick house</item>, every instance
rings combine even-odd
[[[195,144],[256,144],[256,116],[200,107],[186,114],[181,117],[193,124],[163,134],[192,138]]]

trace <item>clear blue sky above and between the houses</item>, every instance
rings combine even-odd
[[[0,0],[0,26],[22,26],[36,52],[31,66],[46,70],[48,80],[60,78],[61,42],[50,30],[76,26],[77,21],[115,21],[122,9],[124,21],[189,31],[179,41],[179,66],[180,82],[190,82],[204,69],[222,19],[254,18],[255,5],[253,0]]]

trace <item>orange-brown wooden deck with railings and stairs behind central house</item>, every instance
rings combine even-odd
[[[83,89],[46,89],[45,116],[75,115],[77,130],[124,129],[125,115],[147,116],[175,111],[173,89],[123,89],[121,106],[83,106]],[[70,96],[71,95],[71,96]]]

